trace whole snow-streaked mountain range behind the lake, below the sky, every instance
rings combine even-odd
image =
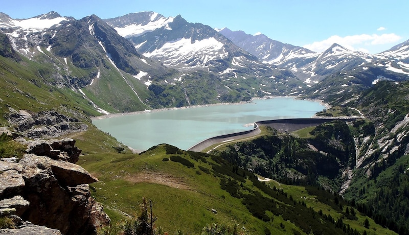
[[[58,67],[51,84],[71,87],[103,113],[265,96],[353,98],[377,81],[409,75],[408,41],[377,55],[338,44],[315,53],[262,34],[217,31],[154,12],[105,20],[56,12],[12,19],[2,13],[0,29],[13,50]],[[120,91],[113,91],[112,80]]]

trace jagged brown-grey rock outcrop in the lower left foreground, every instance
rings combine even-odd
[[[18,162],[0,161],[0,211],[39,226],[22,223],[19,231],[0,233],[26,234],[46,226],[58,230],[30,234],[93,234],[108,225],[103,207],[90,197],[88,183],[98,179],[75,164],[81,153],[75,140],[18,141],[28,153]]]

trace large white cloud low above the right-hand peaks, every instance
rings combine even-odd
[[[315,41],[311,44],[303,45],[304,48],[307,48],[314,52],[323,52],[327,50],[333,43],[338,43],[345,48],[351,51],[362,51],[368,52],[366,49],[371,45],[382,45],[392,42],[397,42],[401,39],[400,36],[390,33],[390,34],[360,34],[360,35],[351,35],[340,37],[338,35],[333,35],[322,41]]]

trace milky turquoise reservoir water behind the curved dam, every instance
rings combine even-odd
[[[254,126],[249,124],[257,121],[311,117],[324,108],[319,102],[273,98],[120,115],[93,124],[138,151],[164,143],[186,150],[216,135],[250,130]]]

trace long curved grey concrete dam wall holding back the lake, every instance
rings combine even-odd
[[[261,130],[259,126],[268,126],[274,128],[280,132],[292,132],[296,130],[303,129],[305,127],[318,126],[326,122],[332,122],[335,120],[342,120],[345,122],[351,122],[358,119],[358,117],[338,117],[338,118],[310,118],[310,119],[276,119],[276,120],[267,120],[259,121],[254,123],[254,129],[249,131],[241,131],[232,134],[214,136],[208,139],[205,139],[196,145],[190,147],[188,151],[200,152],[203,149],[206,149],[215,144],[222,144],[223,142],[231,142],[237,139],[243,139],[252,137],[260,134]]]

